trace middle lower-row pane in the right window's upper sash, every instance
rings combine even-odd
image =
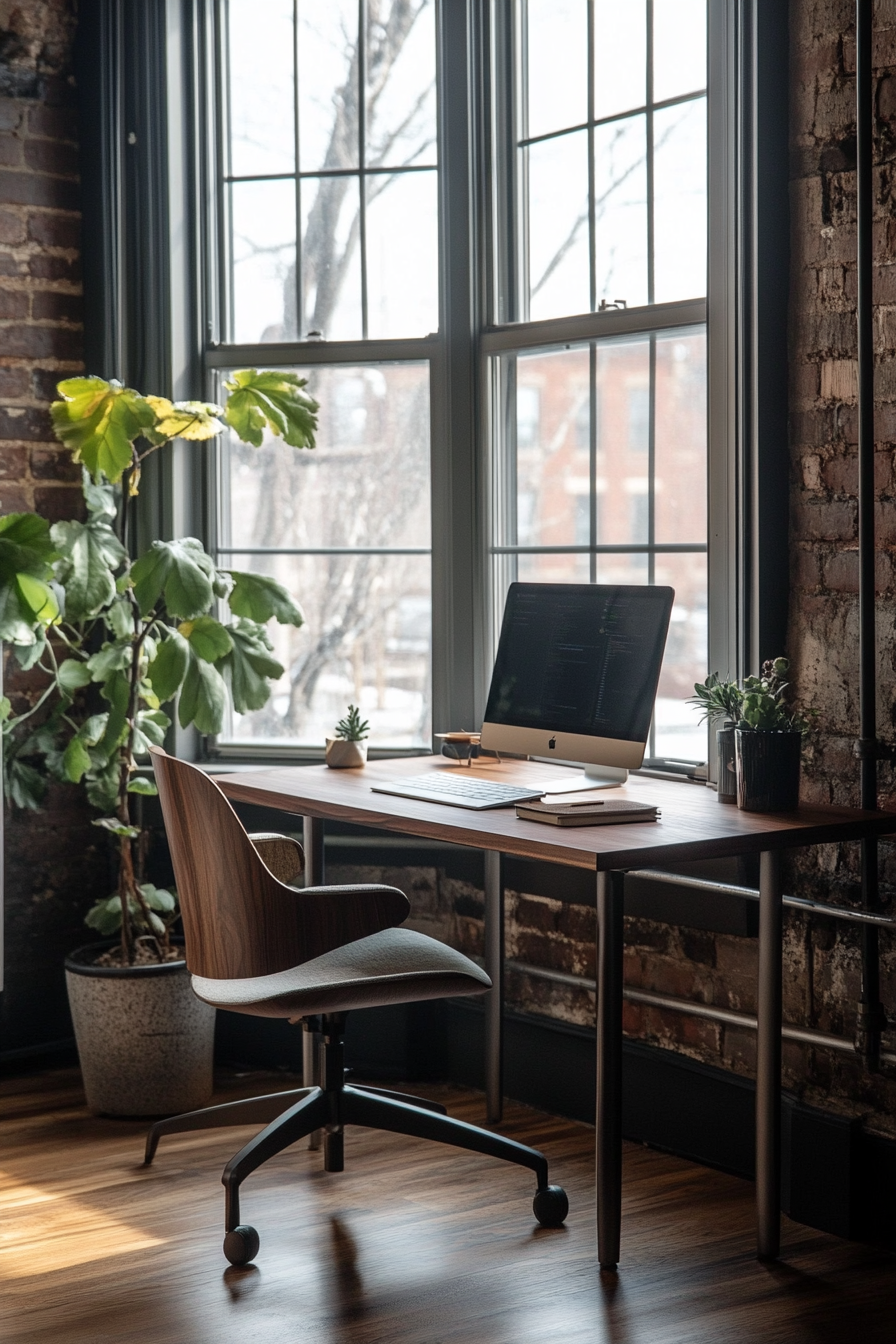
[[[598,304],[647,302],[646,118],[594,132],[595,285]]]

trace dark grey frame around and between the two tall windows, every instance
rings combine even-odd
[[[79,19],[87,364],[172,396],[195,396],[208,366],[232,367],[240,353],[214,339],[215,259],[206,246],[216,227],[214,134],[203,95],[215,75],[214,11],[215,0],[138,7],[82,0]],[[731,675],[780,652],[786,633],[787,594],[778,582],[787,564],[789,484],[782,450],[787,19],[780,11],[774,0],[709,0],[709,657],[712,668]],[[439,4],[442,324],[429,352],[437,730],[478,722],[490,667],[484,445],[493,407],[482,367],[504,339],[484,320],[500,282],[488,246],[500,219],[489,148],[497,59],[490,27],[490,0]],[[449,89],[465,97],[449,103]],[[654,328],[664,306],[652,310]],[[681,312],[665,317],[681,325]],[[531,344],[557,335],[552,321],[531,328]],[[627,312],[576,321],[587,340],[625,331]],[[357,343],[341,353],[365,362],[376,359],[377,347]],[[415,358],[419,348],[414,343]],[[266,353],[271,362],[281,355],[309,363],[321,352],[298,343]],[[394,343],[384,353],[400,358]],[[188,532],[210,539],[210,480],[200,456],[175,448],[164,464],[150,465],[138,540]],[[215,754],[214,743],[180,730],[173,749],[193,759]]]

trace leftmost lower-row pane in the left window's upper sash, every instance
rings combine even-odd
[[[296,340],[296,185],[236,181],[230,192],[232,339]]]

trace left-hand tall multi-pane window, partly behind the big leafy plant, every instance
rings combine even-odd
[[[266,0],[263,24],[255,0],[216,12],[215,372],[228,344],[265,364],[312,344],[314,363],[285,363],[321,406],[313,453],[220,445],[218,555],[274,575],[306,620],[273,629],[285,675],[219,746],[317,747],[352,702],[376,746],[419,749],[433,732],[435,4]]]

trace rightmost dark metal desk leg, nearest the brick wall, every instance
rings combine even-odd
[[[759,989],[756,1035],[756,1254],[780,1249],[780,852],[759,860]]]

